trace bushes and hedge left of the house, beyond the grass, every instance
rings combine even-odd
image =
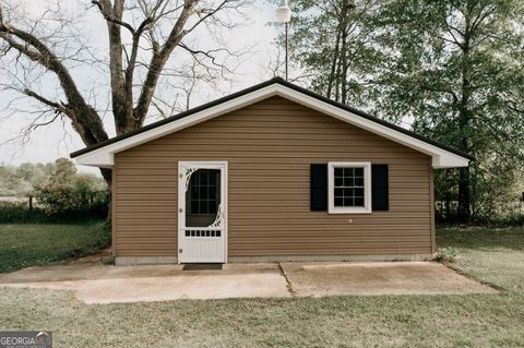
[[[52,165],[0,169],[11,173],[2,178],[0,191],[14,199],[0,202],[0,223],[58,223],[107,216],[109,195],[105,181],[79,173],[67,158]]]

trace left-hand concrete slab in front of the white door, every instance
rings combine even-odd
[[[86,303],[289,297],[278,264],[227,264],[183,271],[182,265],[102,264],[32,267],[0,275],[0,286],[74,291]]]

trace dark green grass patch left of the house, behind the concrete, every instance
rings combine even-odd
[[[0,224],[0,273],[88,255],[108,242],[104,221]]]

